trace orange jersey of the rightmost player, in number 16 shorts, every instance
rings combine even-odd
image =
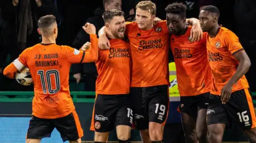
[[[235,33],[227,28],[220,27],[214,38],[207,35],[206,39],[208,60],[213,75],[211,94],[220,95],[221,89],[235,74],[239,64],[234,55],[244,49]],[[233,85],[231,92],[245,88],[249,88],[249,84],[244,75]]]

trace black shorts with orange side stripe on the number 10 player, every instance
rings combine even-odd
[[[69,115],[57,119],[41,119],[33,115],[29,121],[27,139],[49,138],[54,128],[60,132],[63,142],[75,141],[83,137],[83,129],[78,115],[76,111],[73,111]]]

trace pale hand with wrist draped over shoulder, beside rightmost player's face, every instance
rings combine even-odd
[[[200,22],[196,18],[186,19],[187,23],[192,26],[190,39],[191,41],[199,41],[203,39],[203,30],[200,27]]]

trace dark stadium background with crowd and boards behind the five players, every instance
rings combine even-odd
[[[112,0],[112,2],[117,2],[117,0]],[[139,0],[122,1],[122,9],[126,13],[127,21],[133,20],[134,7],[138,2]],[[161,19],[165,19],[164,7],[172,2],[182,2],[187,5],[187,18],[197,18],[200,7],[204,5],[217,6],[221,13],[219,23],[237,34],[251,59],[252,66],[246,77],[249,80],[251,91],[256,91],[256,78],[253,75],[256,60],[254,56],[254,48],[256,47],[255,1],[153,0],[153,2],[157,5],[157,17]],[[99,10],[103,11],[103,4],[102,0],[94,0],[92,3],[85,0],[19,0],[19,4],[13,6],[12,0],[4,0],[0,1],[0,10],[0,143],[25,142],[28,121],[31,116],[33,86],[21,86],[15,80],[5,78],[2,74],[3,69],[23,49],[41,42],[41,37],[36,31],[36,21],[40,16],[53,14],[57,17],[59,25],[57,44],[78,48],[76,40],[81,38],[83,24],[91,18],[97,17]],[[31,24],[28,27],[24,27],[24,22],[25,24],[32,23],[33,27],[31,27]],[[28,32],[22,33],[23,28],[26,28]],[[24,39],[24,37],[26,38]],[[169,61],[171,63],[169,69],[170,82],[172,83],[170,86],[170,100],[171,107],[173,107],[170,110],[169,123],[179,123],[179,114],[175,111],[179,104],[179,94],[177,82],[175,81],[175,66],[172,63],[172,56],[170,56]],[[82,74],[82,79],[79,83],[73,78],[75,73]],[[70,69],[70,91],[84,129],[83,142],[93,142],[93,132],[89,131],[89,127],[95,95],[93,92],[95,87],[92,85],[95,85],[95,78],[97,78],[97,72],[95,72],[93,64],[74,65]],[[252,92],[252,95],[256,97],[255,92]],[[253,102],[256,103],[255,100]],[[117,140],[114,131],[110,133],[109,140]],[[132,131],[132,140],[135,142],[140,141],[138,131]],[[223,141],[241,142],[247,140],[241,132],[230,129],[225,131]],[[59,133],[54,130],[52,138],[43,139],[42,142],[62,141]]]

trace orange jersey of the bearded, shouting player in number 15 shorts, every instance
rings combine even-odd
[[[98,71],[96,93],[129,94],[131,83],[131,49],[129,42],[110,39],[110,48],[99,51],[95,62]],[[97,45],[98,47],[98,45]]]

